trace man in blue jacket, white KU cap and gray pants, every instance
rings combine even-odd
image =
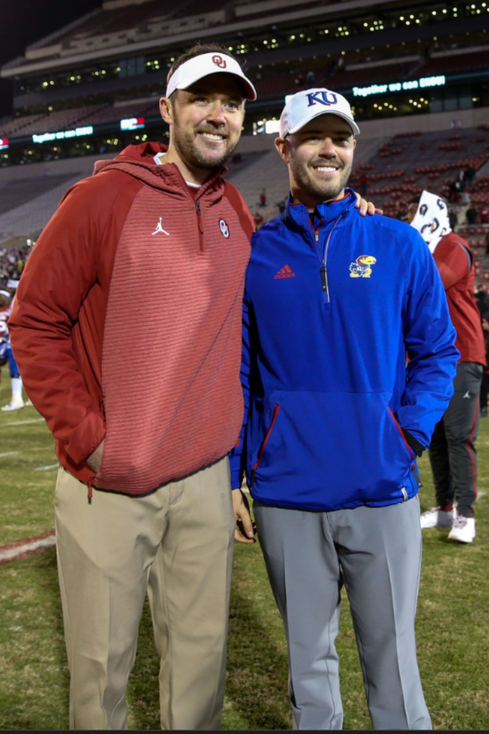
[[[419,233],[355,210],[345,186],[356,134],[348,101],[330,90],[298,92],[282,112],[276,148],[291,194],[252,240],[232,487],[246,472],[295,728],[342,728],[345,584],[373,727],[430,729],[414,635],[416,454],[452,396],[459,353]]]

